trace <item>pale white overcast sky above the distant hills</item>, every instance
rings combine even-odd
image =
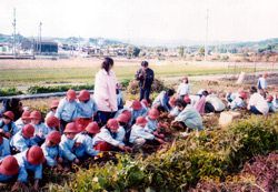
[[[278,38],[277,0],[0,0],[0,33],[148,42]]]

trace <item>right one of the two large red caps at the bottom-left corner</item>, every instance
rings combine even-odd
[[[39,165],[43,163],[44,154],[42,152],[42,149],[37,145],[31,146],[26,153],[26,159],[30,164],[33,165]]]

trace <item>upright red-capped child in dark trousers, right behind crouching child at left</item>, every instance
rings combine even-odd
[[[32,111],[30,119],[34,128],[33,141],[41,145],[46,140],[44,134],[47,133],[46,124],[41,122],[41,113],[39,111]]]

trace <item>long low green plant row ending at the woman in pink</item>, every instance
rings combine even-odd
[[[34,94],[34,93],[50,93],[50,92],[63,92],[68,91],[69,89],[73,89],[76,91],[80,91],[83,89],[93,90],[93,84],[82,84],[82,85],[57,85],[57,87],[44,87],[44,85],[33,85],[29,87],[27,92]]]

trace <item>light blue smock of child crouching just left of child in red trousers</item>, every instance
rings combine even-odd
[[[88,134],[79,133],[75,138],[76,142],[82,143],[80,148],[76,149],[76,154],[80,158],[89,154],[91,156],[96,156],[99,154],[98,151],[93,150],[92,138]]]

